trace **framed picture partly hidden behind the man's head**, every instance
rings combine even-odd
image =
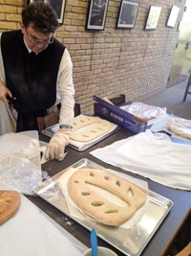
[[[50,5],[57,15],[57,21],[63,23],[64,8],[66,0],[30,0],[29,3],[43,2]]]

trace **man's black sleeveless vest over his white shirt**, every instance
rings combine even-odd
[[[41,53],[29,54],[19,30],[2,34],[1,50],[6,85],[16,98],[14,108],[22,113],[35,113],[53,106],[65,46],[54,38],[53,44]]]

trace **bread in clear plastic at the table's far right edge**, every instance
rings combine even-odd
[[[170,131],[184,137],[191,139],[191,121],[181,118],[172,118],[168,121],[167,128]]]

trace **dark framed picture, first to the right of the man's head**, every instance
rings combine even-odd
[[[89,1],[89,12],[86,23],[87,30],[104,30],[108,2],[109,0]]]

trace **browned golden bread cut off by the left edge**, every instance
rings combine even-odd
[[[0,225],[11,219],[20,206],[20,197],[17,192],[0,190]]]

